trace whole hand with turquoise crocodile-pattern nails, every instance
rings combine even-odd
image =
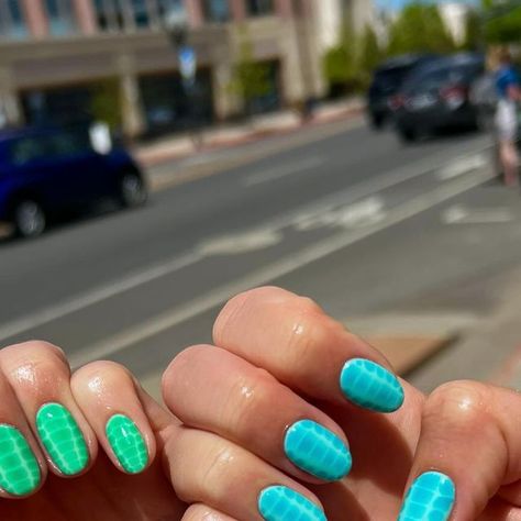
[[[462,381],[425,398],[400,380],[400,386],[378,352],[310,300],[277,288],[232,299],[213,333],[215,346],[188,348],[163,380],[185,425],[166,453],[187,469],[171,474],[187,502],[240,521],[260,520],[259,511],[268,521],[322,520],[323,510],[331,521],[386,521],[397,519],[406,487],[421,476],[400,521],[521,520],[517,393]],[[355,358],[380,368],[368,365],[374,373],[364,375],[363,363],[351,362]],[[378,378],[387,392],[378,393]],[[353,468],[342,478],[350,453]],[[299,496],[284,499],[273,486]]]

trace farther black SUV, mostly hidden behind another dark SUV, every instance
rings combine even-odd
[[[391,117],[390,100],[406,78],[417,67],[435,58],[432,54],[408,54],[388,59],[375,70],[367,99],[367,112],[374,129],[380,129]]]

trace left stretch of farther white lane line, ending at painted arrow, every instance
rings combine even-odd
[[[113,284],[96,288],[76,298],[65,300],[56,306],[49,306],[41,311],[14,320],[0,328],[0,340],[10,339],[24,331],[44,325],[53,320],[62,319],[89,306],[97,304],[115,295],[134,289],[143,284],[151,282],[184,267],[190,266],[202,258],[201,253],[193,252],[175,257],[145,271],[141,271]]]

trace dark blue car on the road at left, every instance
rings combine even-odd
[[[89,130],[0,131],[0,221],[18,235],[42,234],[53,217],[112,198],[147,199],[144,177],[122,146],[95,151]]]

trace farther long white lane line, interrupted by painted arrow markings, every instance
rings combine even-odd
[[[475,155],[476,151],[469,154]],[[464,157],[467,156],[463,156],[463,158]],[[378,176],[369,181],[354,185],[346,190],[334,193],[333,196],[326,196],[319,201],[307,206],[304,209],[299,208],[298,210],[292,210],[286,214],[279,215],[264,223],[259,229],[270,230],[273,232],[279,231],[285,226],[292,225],[302,215],[310,217],[312,214],[331,211],[335,206],[354,202],[378,191],[400,185],[407,180],[432,174],[437,168],[443,167],[443,165],[446,165],[446,152],[441,157],[437,158],[436,156],[436,159],[428,162],[428,164],[422,162],[421,165],[414,164],[397,168],[396,170],[388,171],[387,174]],[[251,230],[250,232],[253,233],[254,230]],[[195,251],[173,257],[162,264],[153,265],[143,271],[131,274],[121,280],[117,280],[112,284],[78,295],[71,299],[64,300],[55,306],[44,308],[25,317],[21,317],[20,319],[7,322],[3,326],[0,326],[0,341],[13,337],[31,329],[38,328],[52,322],[53,320],[62,319],[70,313],[102,302],[103,300],[134,289],[143,284],[170,275],[176,270],[198,263],[202,258],[204,258],[204,253],[199,248],[196,248]]]

